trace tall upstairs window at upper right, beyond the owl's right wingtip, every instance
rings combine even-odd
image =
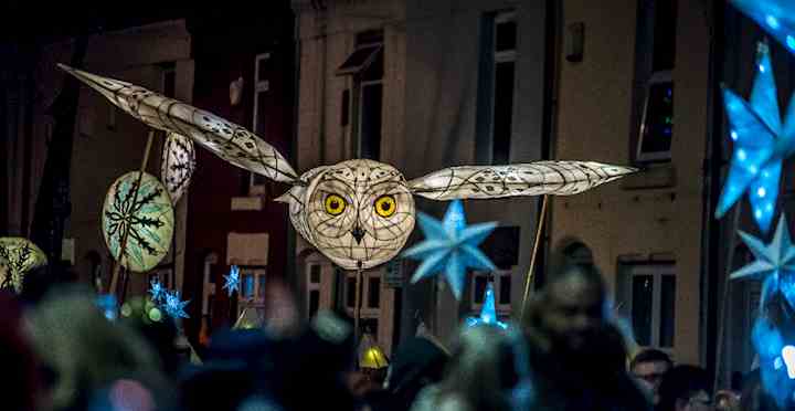
[[[638,162],[670,161],[676,0],[638,0],[633,144]]]

